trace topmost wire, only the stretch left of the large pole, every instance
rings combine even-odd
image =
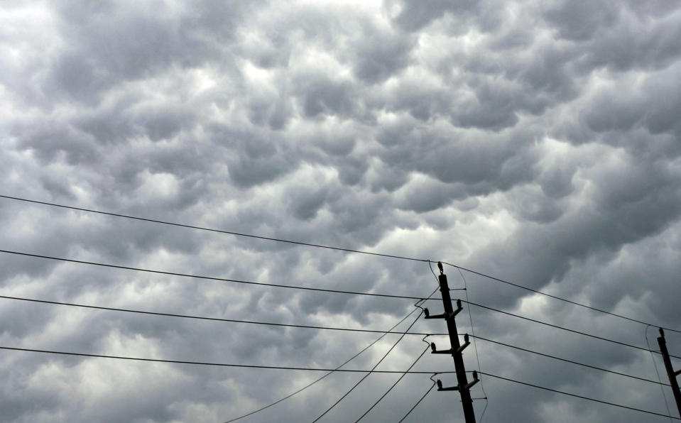
[[[139,221],[148,221],[152,222],[155,224],[163,224],[163,225],[170,225],[170,226],[180,226],[182,228],[189,228],[189,229],[199,229],[200,231],[209,231],[209,232],[217,232],[219,234],[228,234],[228,235],[235,235],[235,236],[245,236],[247,238],[256,238],[256,239],[264,239],[266,241],[277,241],[277,242],[283,242],[283,243],[290,243],[290,244],[295,244],[298,246],[308,246],[308,247],[316,247],[316,248],[327,248],[328,250],[336,250],[336,251],[345,251],[347,253],[359,253],[359,254],[368,254],[369,256],[380,256],[380,257],[389,257],[389,258],[399,258],[401,260],[413,260],[413,261],[427,261],[427,259],[422,259],[422,258],[413,258],[413,257],[404,257],[404,256],[395,256],[393,254],[383,254],[383,253],[371,253],[370,251],[361,251],[361,250],[353,250],[352,248],[341,248],[341,247],[332,247],[332,246],[324,246],[321,244],[315,244],[315,243],[307,243],[307,242],[301,242],[301,241],[290,241],[288,239],[281,239],[281,238],[272,238],[269,236],[259,236],[259,235],[251,235],[251,234],[244,234],[243,232],[234,232],[234,231],[223,231],[221,229],[211,229],[211,228],[205,228],[202,226],[193,226],[193,225],[185,225],[185,224],[178,224],[174,222],[169,222],[169,221],[162,221],[162,220],[157,220],[157,219],[147,219],[145,217],[138,217],[138,216],[129,216],[127,214],[119,214],[119,213],[110,213],[110,212],[102,212],[100,210],[94,210],[94,209],[84,209],[82,207],[73,207],[73,206],[66,206],[64,204],[57,204],[57,203],[50,203],[50,202],[40,202],[34,199],[26,199],[26,198],[20,198],[20,197],[11,197],[9,195],[2,195],[0,194],[0,198],[6,198],[6,199],[16,199],[21,202],[29,202],[29,203],[34,203],[34,204],[43,204],[45,206],[52,206],[52,207],[61,207],[62,209],[71,209],[71,210],[79,210],[80,212],[89,212],[89,213],[97,213],[97,214],[104,214],[107,216],[116,216],[116,217],[124,217],[125,219],[134,219],[134,220],[139,220]]]

